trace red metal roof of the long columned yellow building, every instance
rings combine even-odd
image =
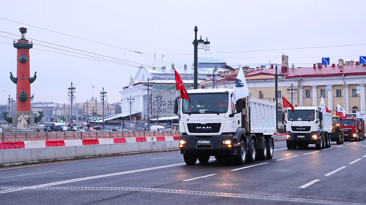
[[[276,69],[253,70],[253,71],[248,72],[245,75],[245,77],[262,76],[261,78],[257,78],[255,80],[271,79],[271,78],[273,78],[275,73],[276,73]],[[277,73],[278,74],[282,73],[281,67],[279,67],[277,69]],[[366,75],[366,66],[362,66],[362,64],[361,65],[347,65],[347,66],[343,66],[343,67],[327,66],[327,67],[322,67],[322,68],[317,67],[316,69],[314,69],[313,67],[297,67],[295,69],[287,68],[287,71],[285,71],[282,74],[285,75],[285,78],[335,77],[335,76],[343,76],[343,74],[344,74],[344,76],[360,76],[360,75]],[[265,75],[265,76],[267,75],[269,77],[264,78],[263,75]],[[228,76],[226,78],[223,78],[219,82],[235,81],[235,79],[236,79],[236,75]],[[248,80],[254,80],[254,79],[252,78],[252,79],[248,79]]]

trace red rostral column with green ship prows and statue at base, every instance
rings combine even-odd
[[[16,112],[12,116],[7,116],[4,112],[4,118],[11,126],[3,127],[3,132],[28,132],[35,131],[39,127],[35,127],[35,123],[41,121],[42,112],[39,116],[35,116],[30,110],[30,102],[33,101],[33,96],[30,92],[30,84],[33,83],[37,76],[30,76],[29,65],[29,49],[33,48],[31,40],[25,38],[27,29],[19,28],[21,38],[14,40],[13,46],[17,49],[16,55],[16,77],[10,72],[10,80],[16,84]],[[43,131],[43,129],[42,129]]]

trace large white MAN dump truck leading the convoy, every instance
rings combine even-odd
[[[276,104],[250,97],[231,102],[234,89],[188,90],[189,100],[175,100],[180,115],[180,154],[187,165],[232,159],[237,165],[272,159]],[[258,156],[257,156],[258,155]]]

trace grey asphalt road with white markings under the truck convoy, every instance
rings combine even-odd
[[[179,151],[0,169],[0,204],[366,204],[366,140],[235,166]]]

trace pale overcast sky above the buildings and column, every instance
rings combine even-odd
[[[94,97],[99,100],[104,87],[113,103],[120,101],[119,92],[140,65],[192,65],[194,26],[198,35],[208,37],[211,47],[198,55],[221,57],[229,63],[268,64],[270,60],[280,64],[283,53],[295,67],[310,67],[328,56],[331,63],[340,58],[358,61],[366,55],[366,45],[343,45],[366,43],[365,5],[361,0],[3,1],[0,104],[7,102],[8,94],[15,98],[16,85],[9,72],[15,76],[12,43],[20,38],[20,27],[28,29],[27,39],[34,39],[30,50],[30,73],[37,71],[38,76],[31,84],[34,102],[67,102],[67,88],[73,82],[78,102],[92,97],[94,85]],[[339,47],[294,49],[324,46]],[[272,49],[293,50],[255,51]]]

